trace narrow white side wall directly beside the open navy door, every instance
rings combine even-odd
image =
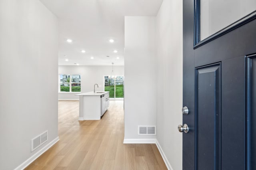
[[[156,17],[157,140],[174,170],[182,169],[182,1],[163,0]]]

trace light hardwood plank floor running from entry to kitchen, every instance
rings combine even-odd
[[[123,144],[123,101],[99,121],[78,121],[78,101],[59,101],[60,141],[26,170],[166,170],[156,144]]]

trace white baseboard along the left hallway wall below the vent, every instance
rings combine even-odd
[[[52,140],[50,143],[48,143],[46,146],[44,146],[42,149],[40,149],[38,152],[36,152],[34,155],[32,155],[30,158],[25,160],[22,164],[20,164],[17,168],[14,170],[24,170],[28,165],[30,165],[36,158],[41,156],[46,150],[48,150],[50,147],[52,147],[56,142],[58,142],[59,136]]]

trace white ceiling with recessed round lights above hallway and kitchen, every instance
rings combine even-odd
[[[41,2],[59,20],[59,65],[124,65],[124,16],[156,16],[162,4],[162,0]],[[72,44],[67,39],[73,40]],[[110,43],[110,39],[115,42]]]

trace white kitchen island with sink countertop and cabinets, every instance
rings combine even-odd
[[[79,96],[79,121],[100,120],[102,115],[108,110],[109,91],[87,92],[78,94]]]

